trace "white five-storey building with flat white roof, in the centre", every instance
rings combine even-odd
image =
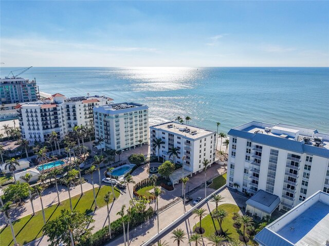
[[[167,122],[150,127],[151,154],[158,155],[158,148],[153,146],[154,140],[161,138],[165,144],[160,147],[160,156],[169,160],[170,148],[178,148],[175,162],[192,173],[203,170],[203,161],[208,159],[210,164],[215,161],[216,133],[177,122]],[[171,157],[173,160],[173,157]]]

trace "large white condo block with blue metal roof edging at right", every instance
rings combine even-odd
[[[252,121],[228,135],[229,187],[276,195],[285,211],[318,190],[329,193],[329,134]]]

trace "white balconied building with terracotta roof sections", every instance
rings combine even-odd
[[[17,105],[22,137],[32,144],[46,141],[53,131],[62,139],[75,126],[94,128],[93,107],[112,100],[105,96],[66,98],[56,93],[42,101]]]

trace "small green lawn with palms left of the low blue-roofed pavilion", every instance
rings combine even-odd
[[[228,216],[224,219],[222,223],[223,231],[226,232],[226,237],[229,240],[237,240],[239,241],[239,233],[236,232],[236,229],[233,227],[233,212],[239,212],[240,209],[236,205],[233,204],[221,204],[218,206],[218,209],[224,209],[228,212]],[[201,226],[205,229],[205,233],[203,234],[205,237],[209,237],[210,235],[215,233],[215,230],[220,230],[220,224],[217,220],[213,220],[208,214],[201,221]],[[199,227],[199,222],[193,227]],[[216,229],[215,229],[216,228]]]

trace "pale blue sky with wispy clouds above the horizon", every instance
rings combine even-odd
[[[2,66],[329,66],[329,2],[1,1]]]

